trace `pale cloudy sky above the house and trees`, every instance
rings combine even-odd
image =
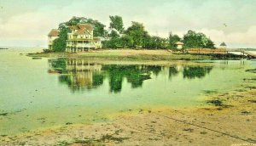
[[[47,35],[73,16],[99,20],[109,15],[125,28],[143,23],[149,34],[167,37],[199,31],[216,47],[256,48],[256,0],[0,0],[0,46],[47,46]]]

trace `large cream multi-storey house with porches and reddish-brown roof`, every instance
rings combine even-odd
[[[84,52],[90,49],[102,48],[100,37],[93,36],[93,26],[79,24],[70,26],[71,32],[67,34],[67,52]]]

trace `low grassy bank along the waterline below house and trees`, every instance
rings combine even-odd
[[[233,54],[189,54],[172,53],[167,50],[96,50],[85,53],[29,53],[31,57],[46,58],[101,58],[101,59],[149,59],[149,60],[219,60],[219,59],[241,59],[239,55]]]

